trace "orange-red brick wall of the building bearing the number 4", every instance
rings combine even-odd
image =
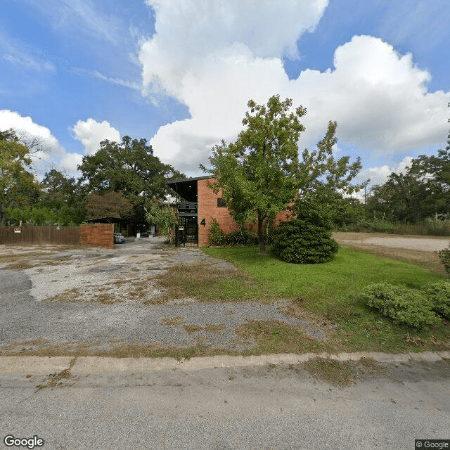
[[[219,222],[221,231],[224,233],[229,233],[230,231],[236,230],[238,226],[236,222],[233,221],[233,217],[226,207],[217,207],[217,198],[221,198],[221,191],[214,194],[212,189],[208,186],[208,181],[214,182],[214,179],[198,180],[198,245],[207,245],[208,236],[207,233],[210,230],[213,219]],[[276,214],[275,217],[275,227],[277,227],[281,221],[289,220],[290,213],[286,211],[281,211]],[[201,221],[205,219],[205,226],[200,225]],[[257,233],[257,224],[252,224],[250,229]]]

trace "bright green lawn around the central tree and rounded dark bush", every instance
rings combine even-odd
[[[331,262],[289,264],[272,255],[259,255],[255,247],[204,248],[207,255],[226,259],[248,278],[257,300],[304,299],[307,309],[323,314],[328,304],[359,295],[369,283],[406,284],[420,288],[444,276],[419,269],[413,264],[377,257],[360,250],[341,247]]]

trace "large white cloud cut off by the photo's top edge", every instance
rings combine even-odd
[[[242,44],[257,58],[295,55],[295,41],[314,30],[328,0],[147,0],[155,9],[152,39],[141,46],[143,86],[184,101],[184,79],[205,58]],[[274,20],[276,18],[276,20]],[[186,103],[188,104],[188,103]]]

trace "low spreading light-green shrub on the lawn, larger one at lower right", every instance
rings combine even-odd
[[[434,304],[429,297],[420,290],[409,289],[404,285],[372,283],[363,291],[361,298],[369,307],[390,317],[394,323],[425,328],[439,321],[432,311]]]

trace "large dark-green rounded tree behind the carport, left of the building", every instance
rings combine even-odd
[[[165,198],[168,193],[165,181],[182,176],[153,155],[146,139],[129,136],[124,136],[121,143],[102,141],[100,150],[85,156],[78,168],[82,172],[80,183],[87,194],[120,193],[142,219],[148,200]]]

